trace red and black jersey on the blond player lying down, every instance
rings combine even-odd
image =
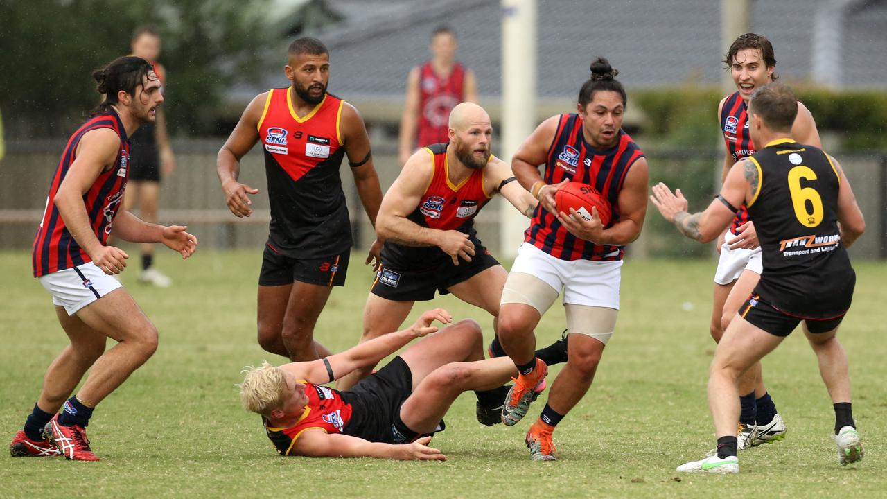
[[[265,432],[280,455],[289,455],[295,446],[295,440],[305,430],[318,428],[326,433],[342,433],[351,419],[351,404],[342,400],[341,392],[307,381],[299,383],[305,385],[308,405],[298,421],[288,428],[275,428],[269,425],[266,418],[262,418]]]

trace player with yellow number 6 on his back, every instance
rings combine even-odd
[[[650,199],[681,234],[710,242],[743,204],[757,226],[763,272],[718,343],[709,377],[709,406],[717,455],[678,471],[737,473],[739,377],[789,336],[799,322],[819,359],[835,408],[838,461],[862,458],[853,423],[847,355],[836,333],[850,308],[856,274],[846,248],[865,230],[853,191],[838,162],[819,147],[792,139],[799,106],[795,94],[770,83],[751,96],[749,134],[757,153],[730,170],[718,198],[690,215],[687,200],[659,184]]]

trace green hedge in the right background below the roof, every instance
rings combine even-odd
[[[795,86],[816,120],[817,128],[836,134],[841,147],[887,148],[885,119],[887,93],[883,91],[829,91]],[[642,132],[665,147],[710,149],[720,143],[718,102],[722,91],[683,86],[632,91],[631,99],[646,119]]]

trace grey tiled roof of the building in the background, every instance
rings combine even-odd
[[[829,0],[752,2],[751,30],[768,36],[777,71],[789,82],[808,80],[815,12]],[[834,1],[834,0],[831,0]],[[538,96],[574,98],[591,60],[602,55],[629,89],[689,81],[717,85],[720,60],[718,0],[539,0]],[[887,2],[858,2],[846,17],[844,83],[887,82]],[[428,59],[428,36],[438,24],[459,36],[459,60],[477,75],[481,96],[501,93],[501,4],[498,0],[338,0],[341,24],[312,35],[330,48],[330,91],[348,99],[402,99],[411,67]],[[286,46],[286,45],[282,45]],[[285,49],[281,49],[281,59]],[[266,86],[240,88],[250,97],[285,86],[277,69]]]

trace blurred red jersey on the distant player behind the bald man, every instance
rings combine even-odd
[[[419,74],[418,144],[449,140],[450,111],[462,102],[464,84],[465,67],[458,62],[446,76],[438,76],[431,61],[422,65]]]

